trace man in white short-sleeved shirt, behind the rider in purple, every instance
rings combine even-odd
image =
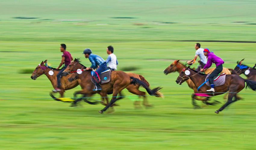
[[[199,66],[197,67],[196,71],[200,71],[200,69],[203,68],[204,65],[207,63],[207,59],[204,56],[204,49],[200,48],[200,47],[201,47],[201,45],[199,43],[195,44],[195,50],[196,50],[195,57],[194,57],[194,59],[192,59],[191,61],[188,62],[188,64],[195,63],[196,58],[199,56],[201,61],[199,63]]]

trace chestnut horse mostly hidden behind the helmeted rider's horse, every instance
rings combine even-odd
[[[84,66],[82,69],[85,69],[85,68],[86,68],[86,67]],[[140,74],[136,74],[136,73],[130,73],[130,72],[126,72],[126,73],[127,73],[130,77],[135,77],[135,78],[138,78],[138,79],[140,79],[141,81],[145,82],[145,83],[147,84],[147,86],[149,87],[149,82],[144,78],[144,76],[142,76],[142,75],[140,75]],[[73,81],[73,80],[75,80],[75,79],[79,79],[79,78],[78,78],[78,73],[75,73],[75,72],[74,72],[74,73],[71,73],[71,74],[70,74],[70,77],[68,78],[68,80],[71,82],[71,81]],[[80,81],[80,80],[79,80],[79,81]],[[79,82],[79,83],[82,84],[81,82]],[[140,85],[138,85],[138,84],[136,84],[136,85],[130,84],[130,85],[128,85],[128,86],[126,87],[126,89],[127,89],[130,93],[132,93],[132,94],[135,94],[135,95],[138,95],[138,96],[142,96],[142,97],[143,97],[143,105],[144,105],[145,107],[152,107],[152,105],[148,103],[147,97],[145,96],[146,93],[145,93],[144,91],[140,91],[140,90],[139,90],[139,87],[140,87]],[[104,99],[105,99],[106,104],[108,104],[108,97],[107,97],[106,93],[104,93],[104,94],[105,94],[105,96],[102,96],[102,97],[103,97],[102,100],[104,101]],[[123,98],[121,92],[120,92],[119,94],[120,94],[120,97],[118,97],[117,100],[120,100],[120,99]],[[157,95],[160,95],[160,97],[162,97],[162,94],[161,94],[160,92],[158,92],[158,93],[156,93],[156,94],[157,94]],[[138,107],[138,108],[139,108],[140,101],[135,101],[135,102],[134,102],[134,105],[135,105],[135,107]]]

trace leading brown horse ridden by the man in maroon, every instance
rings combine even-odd
[[[47,76],[47,78],[50,80],[50,82],[52,83],[53,88],[57,86],[57,74],[59,72],[59,70],[56,69],[50,69],[48,67],[45,66],[47,60],[42,61],[39,65],[36,66],[35,70],[33,71],[33,73],[31,74],[31,79],[35,80],[37,77],[41,76],[42,74],[45,74]],[[53,71],[53,75],[49,75],[49,71],[52,70]],[[79,85],[78,83],[78,79],[73,80],[72,82],[69,82],[67,80],[69,76],[63,76],[61,77],[61,86],[60,89],[61,91],[59,91],[59,94],[61,95],[61,98],[63,98],[64,96],[64,91],[65,90],[69,90],[72,88],[75,88],[77,85]]]

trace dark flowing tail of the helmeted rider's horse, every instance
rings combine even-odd
[[[148,92],[149,95],[152,95],[152,96],[156,96],[156,97],[161,97],[160,94],[159,94],[159,90],[161,89],[160,87],[157,87],[157,88],[154,88],[154,89],[150,89],[147,85],[146,82],[143,82],[142,80],[138,79],[138,78],[135,78],[135,77],[130,77],[130,79],[132,79],[132,81],[130,82],[130,84],[138,84],[138,85],[141,85],[143,88],[146,89],[146,91]]]

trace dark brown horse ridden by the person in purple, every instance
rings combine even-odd
[[[185,74],[185,71],[189,72],[188,75]],[[192,82],[195,84],[195,86],[199,87],[205,81],[206,76],[207,76],[206,74],[202,74],[193,69],[190,69],[189,67],[186,67],[184,71],[180,72],[180,75],[176,79],[176,83],[181,85],[187,79],[191,79]],[[216,96],[216,95],[221,95],[221,94],[229,91],[227,102],[222,107],[220,107],[220,109],[215,111],[215,113],[219,113],[225,107],[227,107],[229,104],[238,100],[237,93],[245,88],[245,82],[246,82],[246,88],[249,87],[254,91],[256,90],[256,82],[255,81],[243,79],[239,75],[228,74],[228,75],[226,75],[224,85],[214,87],[216,93],[207,92],[206,90],[209,89],[209,87],[205,84],[203,86],[201,86],[201,88],[199,89],[199,93],[207,93],[207,95],[209,95],[209,96]],[[197,95],[197,94],[192,94],[193,102],[194,102],[195,95]],[[232,100],[233,98],[234,98],[234,100]]]

